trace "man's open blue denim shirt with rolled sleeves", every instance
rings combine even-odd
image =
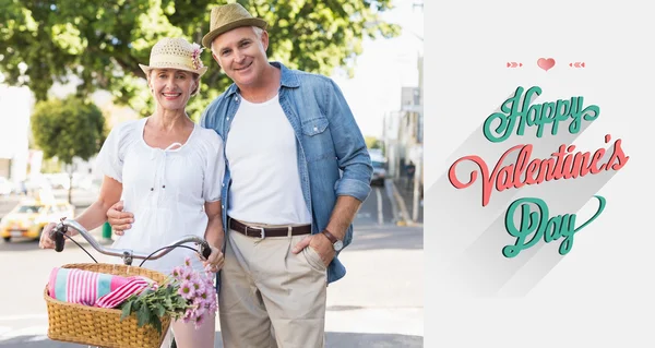
[[[271,64],[282,71],[279,104],[296,134],[298,173],[305,204],[312,217],[311,232],[319,233],[327,226],[338,195],[354,196],[361,202],[368,197],[373,167],[364,136],[338,86],[323,75],[289,70],[278,62]],[[205,109],[201,125],[215,130],[227,143],[240,101],[239,88],[230,85]],[[231,178],[227,157],[225,163],[222,204],[223,227],[228,231]],[[344,245],[352,240],[353,225],[346,231]],[[327,283],[346,274],[337,256],[327,267]]]

